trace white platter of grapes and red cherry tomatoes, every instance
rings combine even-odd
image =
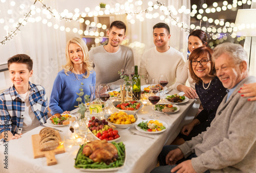
[[[107,140],[108,142],[119,140],[121,137],[118,131],[109,126],[106,119],[98,119],[93,116],[88,123],[88,128],[97,140]]]

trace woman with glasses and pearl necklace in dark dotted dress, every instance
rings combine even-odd
[[[215,76],[214,63],[211,61],[212,53],[211,48],[202,46],[196,48],[189,56],[190,76],[196,82],[195,89],[203,110],[182,128],[172,144],[182,144],[205,131],[215,118],[216,111],[226,95],[226,89]]]

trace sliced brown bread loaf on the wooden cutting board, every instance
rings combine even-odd
[[[40,130],[39,135],[41,137],[39,142],[40,151],[54,150],[59,146],[61,141],[59,133],[52,128],[44,128]]]

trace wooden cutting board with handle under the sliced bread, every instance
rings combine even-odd
[[[58,132],[59,134],[59,132]],[[47,165],[55,165],[57,164],[57,160],[55,158],[55,154],[65,153],[64,145],[59,145],[56,149],[50,151],[40,151],[39,150],[39,142],[40,142],[40,135],[35,134],[32,135],[32,145],[33,145],[33,152],[34,152],[34,159],[40,157],[46,157]]]

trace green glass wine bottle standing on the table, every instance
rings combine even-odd
[[[138,66],[134,66],[133,76],[133,100],[140,100],[140,76],[138,75]]]

